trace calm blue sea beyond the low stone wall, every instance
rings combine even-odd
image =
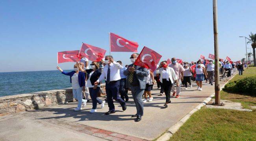
[[[66,70],[71,71],[71,70]],[[60,71],[0,72],[0,96],[71,87]]]

